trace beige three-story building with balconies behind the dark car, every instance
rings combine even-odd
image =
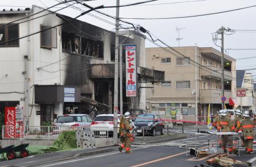
[[[170,48],[146,48],[146,66],[165,72],[164,82],[146,90],[146,108],[172,119],[206,120],[209,104],[212,114],[221,109],[221,52],[196,46],[174,49],[190,60]],[[225,55],[224,65],[225,105],[233,108],[229,100],[236,97],[236,60]]]

